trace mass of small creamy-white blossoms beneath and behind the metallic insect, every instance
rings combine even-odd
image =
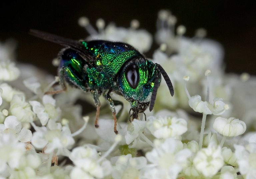
[[[159,12],[160,47],[153,54],[172,80],[174,97],[160,85],[146,120],[119,119],[118,135],[104,105],[95,129],[95,112],[83,117],[76,104],[91,103],[90,95],[73,88],[45,95],[57,80],[33,66],[16,67],[13,42],[0,44],[0,179],[256,178],[256,78],[225,74],[221,46],[205,39],[204,29],[184,37],[176,21],[169,11]],[[99,19],[98,31],[85,17],[79,24],[91,34],[87,39],[122,41],[142,52],[153,40],[137,20],[130,28],[105,28]]]

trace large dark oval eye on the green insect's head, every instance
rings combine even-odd
[[[132,89],[137,88],[140,81],[140,74],[139,68],[136,64],[131,64],[127,67],[125,71],[125,78]]]

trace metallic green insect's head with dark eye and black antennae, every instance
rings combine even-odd
[[[164,78],[167,76],[162,70],[160,65],[142,57],[134,57],[122,65],[118,72],[118,87],[124,98],[130,102],[134,118],[138,118],[138,113],[144,112],[149,104],[150,111],[153,109],[157,88],[161,83],[161,73]],[[167,78],[169,79],[168,76]],[[173,95],[172,84],[169,85]]]

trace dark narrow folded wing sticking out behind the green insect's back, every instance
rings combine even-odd
[[[53,43],[63,45],[65,47],[70,47],[76,50],[80,54],[80,56],[83,57],[88,63],[92,63],[94,61],[91,55],[86,53],[86,49],[83,46],[83,44],[77,40],[60,37],[58,35],[50,34],[40,30],[34,30],[34,29],[30,29],[29,34]]]

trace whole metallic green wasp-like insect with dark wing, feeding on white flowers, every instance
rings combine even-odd
[[[66,82],[70,86],[90,92],[97,107],[96,128],[99,127],[97,122],[101,94],[104,94],[110,104],[116,134],[117,118],[111,92],[122,95],[130,102],[129,121],[137,119],[138,113],[143,113],[148,106],[150,111],[153,109],[161,74],[171,95],[174,94],[172,83],[164,69],[147,60],[129,44],[105,40],[75,41],[37,30],[30,30],[30,34],[65,46],[59,52],[62,90],[48,94],[65,91]]]

